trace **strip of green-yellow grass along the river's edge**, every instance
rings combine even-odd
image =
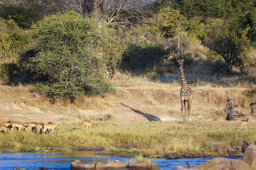
[[[171,150],[195,157],[223,157],[228,148],[242,151],[243,139],[255,140],[255,128],[241,130],[238,121],[137,122],[101,121],[96,130],[82,130],[81,122],[60,121],[55,134],[34,131],[0,133],[2,152],[104,150],[105,154],[165,157]],[[9,147],[8,150],[5,148]],[[225,156],[226,157],[226,156]]]

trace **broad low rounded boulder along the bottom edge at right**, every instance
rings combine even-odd
[[[242,160],[234,160],[227,158],[213,158],[208,162],[196,165],[195,167],[189,169],[208,169],[208,170],[253,170],[247,163]]]

